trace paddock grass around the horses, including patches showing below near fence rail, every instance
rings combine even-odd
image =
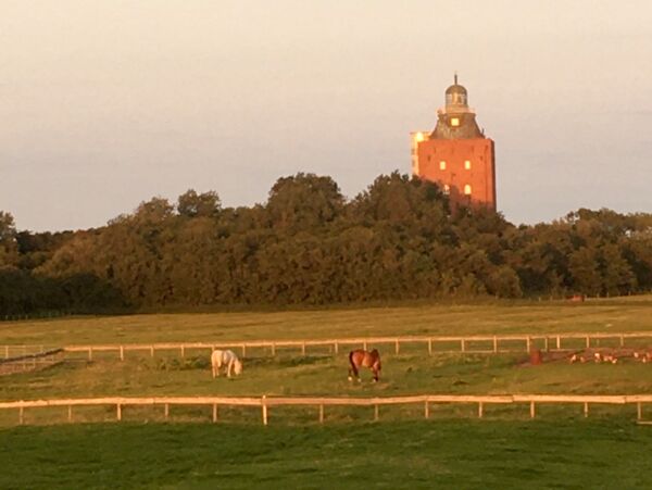
[[[372,382],[371,372],[362,370],[362,382],[349,381],[348,360],[339,355],[277,355],[244,359],[244,370],[231,379],[213,379],[209,354],[179,356],[139,356],[125,361],[105,354],[92,362],[79,360],[37,373],[5,376],[0,379],[0,400],[35,400],[95,397],[174,397],[174,395],[326,395],[391,397],[401,394],[625,394],[652,392],[652,364],[622,360],[618,364],[569,364],[564,356],[532,366],[523,354],[435,354],[405,352],[384,356],[380,381]],[[573,417],[580,406],[542,409],[542,416]],[[210,407],[174,407],[172,419],[210,420]],[[476,406],[440,407],[442,416],[473,418]],[[548,412],[546,412],[548,410]],[[632,406],[602,409],[635,418]],[[652,418],[652,406],[644,406]],[[75,407],[76,422],[115,418],[114,407]],[[611,412],[610,412],[611,411]],[[15,410],[0,411],[0,426],[15,425]],[[260,409],[221,407],[221,420],[260,424]],[[383,418],[419,418],[423,407],[383,407]],[[529,416],[527,406],[488,406],[491,418]],[[593,412],[592,412],[593,413]],[[595,413],[600,413],[599,411]],[[27,424],[66,420],[65,409],[29,409]],[[392,415],[393,414],[393,415]],[[432,407],[432,416],[437,416]],[[315,409],[274,407],[272,416],[287,424],[316,423]],[[162,407],[127,407],[125,417],[162,420]],[[368,420],[369,409],[328,407],[329,422]]]

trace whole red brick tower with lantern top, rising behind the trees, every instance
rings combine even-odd
[[[485,137],[468,106],[466,89],[446,89],[446,106],[437,111],[432,133],[412,133],[412,173],[437,183],[460,205],[496,211],[493,141]]]

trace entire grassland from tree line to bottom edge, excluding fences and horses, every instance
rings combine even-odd
[[[0,344],[131,343],[379,335],[652,331],[652,298],[496,302],[364,310],[75,317],[0,324]],[[578,347],[581,345],[581,341]],[[347,380],[346,349],[312,348],[275,357],[248,350],[244,373],[213,379],[208,351],[96,353],[38,373],[0,378],[0,400],[102,395],[394,395],[417,393],[652,393],[652,365],[539,366],[524,354],[430,356],[421,345],[383,352],[381,380]],[[472,405],[260,409],[65,407],[0,411],[0,488],[645,488],[652,478],[652,427],[628,406]],[[652,406],[644,407],[652,418]],[[101,422],[105,423],[101,423]],[[48,425],[59,424],[59,425]]]

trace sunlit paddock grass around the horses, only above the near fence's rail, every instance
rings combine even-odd
[[[0,379],[0,400],[110,395],[397,395],[417,393],[652,392],[652,364],[523,364],[523,355],[384,356],[380,382],[363,370],[362,384],[347,379],[348,360],[338,356],[244,360],[243,375],[213,379],[209,356],[127,357],[63,364]],[[1,413],[0,413],[1,419]]]

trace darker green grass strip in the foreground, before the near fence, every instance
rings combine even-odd
[[[0,488],[649,488],[652,427],[619,420],[0,431]]]

